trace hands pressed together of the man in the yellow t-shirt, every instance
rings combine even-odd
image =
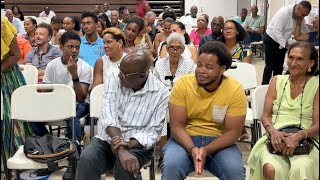
[[[194,147],[191,149],[190,154],[194,162],[194,169],[197,177],[201,177],[203,173],[204,163],[207,158],[206,147]]]

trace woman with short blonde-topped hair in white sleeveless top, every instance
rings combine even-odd
[[[123,47],[125,46],[124,33],[115,27],[107,28],[102,32],[104,50],[106,54],[96,61],[93,70],[92,88],[103,84],[107,75],[110,73],[119,73],[119,67],[123,56]]]

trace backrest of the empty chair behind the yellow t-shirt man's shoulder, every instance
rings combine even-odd
[[[257,72],[252,64],[245,62],[233,62],[232,66],[224,72],[224,75],[235,78],[242,86],[243,89],[252,89],[258,86]]]

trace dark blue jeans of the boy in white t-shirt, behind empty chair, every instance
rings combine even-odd
[[[79,142],[81,141],[81,126],[80,126],[80,118],[85,116],[89,113],[89,104],[86,102],[77,104],[77,114],[76,118],[74,119],[74,128],[75,128],[75,135],[76,140]],[[32,131],[37,136],[44,136],[46,134],[49,134],[48,129],[45,126],[44,122],[32,122],[29,123]],[[72,119],[67,120],[67,137],[69,139],[72,138]]]

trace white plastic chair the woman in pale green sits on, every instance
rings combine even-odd
[[[252,92],[252,101],[251,101],[251,108],[252,108],[252,117],[254,121],[254,130],[255,130],[255,137],[253,137],[254,143],[261,137],[264,128],[261,128],[261,124],[259,120],[261,118],[263,107],[264,107],[264,100],[268,91],[269,85],[261,85],[256,87]]]

